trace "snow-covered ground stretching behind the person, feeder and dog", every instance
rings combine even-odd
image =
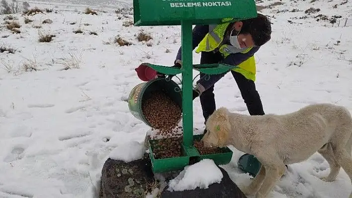
[[[344,27],[343,22],[332,27],[329,21],[314,17],[299,19],[309,16],[304,11],[310,7],[321,9],[311,16],[351,18],[351,2],[292,3],[262,10],[273,22],[271,41],[256,54],[257,87],[265,113],[288,113],[317,102],[344,105],[352,111],[352,27]],[[128,141],[143,142],[149,130],[129,113],[124,101],[141,82],[134,68],[143,62],[171,66],[180,45],[178,26],[126,27],[122,24],[133,20],[132,15],[110,11],[86,15],[59,10],[53,4],[43,4],[43,8],[54,8],[54,12],[29,16],[33,22],[28,24],[25,17],[15,15],[21,25],[19,34],[6,29],[5,16],[0,16],[0,47],[16,50],[0,53],[1,198],[92,197],[110,152]],[[333,8],[335,4],[338,8]],[[285,11],[293,8],[301,11]],[[45,19],[53,23],[42,24]],[[82,34],[73,33],[80,28]],[[142,29],[153,39],[139,42],[136,36]],[[39,43],[40,34],[56,37]],[[132,45],[114,44],[117,35]],[[199,55],[193,57],[199,63]],[[64,70],[69,64],[74,68]],[[28,66],[37,71],[25,71]],[[231,74],[215,87],[218,107],[248,114]],[[194,101],[194,127],[204,127],[199,99]],[[248,184],[250,177],[236,164],[243,153],[233,150],[233,160],[224,168],[238,185]],[[348,197],[352,185],[343,170],[336,182],[318,179],[329,170],[322,156],[315,154],[291,165],[271,195]]]

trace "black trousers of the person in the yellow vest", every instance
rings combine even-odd
[[[200,64],[215,64],[221,61],[222,57],[220,53],[214,54],[213,52],[202,52],[200,58]],[[233,77],[240,89],[242,98],[247,105],[247,109],[251,116],[264,115],[263,105],[259,93],[256,89],[256,85],[253,80],[245,78],[241,73],[231,70]],[[204,73],[200,73],[200,78],[203,78]],[[224,76],[222,74],[222,76]],[[200,95],[200,104],[203,110],[203,117],[206,120],[216,110],[215,97],[214,97],[214,85],[211,85]]]

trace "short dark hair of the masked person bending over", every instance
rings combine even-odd
[[[251,34],[254,44],[262,46],[271,39],[271,23],[261,13],[256,18],[242,20],[243,26],[240,34]]]

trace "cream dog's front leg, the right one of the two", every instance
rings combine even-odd
[[[268,156],[265,156],[268,157]],[[256,198],[266,198],[267,195],[271,192],[271,189],[275,186],[276,182],[282,177],[285,173],[286,166],[279,159],[267,159],[264,161],[259,158],[262,164],[265,167],[265,177],[263,180],[263,185],[259,189]]]

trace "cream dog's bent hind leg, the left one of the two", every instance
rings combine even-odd
[[[322,148],[318,150],[318,152],[326,159],[326,161],[329,163],[329,166],[330,166],[330,173],[328,177],[324,177],[321,179],[326,182],[335,181],[340,172],[341,165],[335,158],[331,143],[326,143]]]

